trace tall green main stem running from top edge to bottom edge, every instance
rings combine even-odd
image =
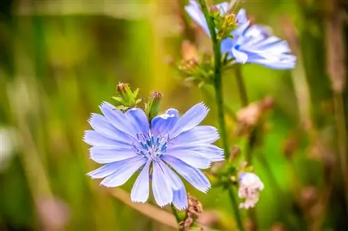
[[[216,38],[215,25],[212,17],[209,14],[209,10],[207,8],[207,3],[205,0],[198,0],[200,4],[200,8],[205,16],[207,21],[207,25],[209,28],[210,37],[212,38],[212,45],[214,51],[214,89],[215,89],[215,99],[216,106],[218,110],[218,119],[219,119],[219,128],[221,139],[223,143],[223,150],[225,151],[226,160],[230,155],[229,145],[228,145],[228,137],[226,132],[226,123],[224,117],[224,108],[223,108],[223,92],[222,92],[222,80],[221,80],[221,42]],[[235,194],[233,194],[232,189],[228,189],[230,200],[232,202],[232,206],[235,212],[235,219],[237,220],[237,225],[239,231],[244,231],[242,218],[239,214],[239,208],[237,206],[237,199],[235,198]]]

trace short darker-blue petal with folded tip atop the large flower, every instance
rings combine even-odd
[[[151,132],[154,135],[164,136],[175,125],[179,119],[179,112],[175,109],[166,110],[166,113],[160,114],[151,122]]]

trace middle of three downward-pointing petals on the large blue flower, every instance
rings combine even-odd
[[[157,205],[164,207],[173,200],[172,186],[157,161],[152,163],[152,167],[152,191]]]

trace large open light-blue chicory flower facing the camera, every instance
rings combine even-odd
[[[118,187],[141,169],[132,188],[131,199],[145,203],[149,182],[157,204],[173,203],[187,208],[187,193],[177,173],[196,189],[207,192],[210,183],[199,169],[223,160],[223,150],[212,143],[219,132],[212,126],[198,126],[207,116],[203,103],[194,105],[182,117],[169,109],[149,123],[145,112],[132,108],[117,110],[110,103],[100,105],[102,114],[89,119],[94,130],[87,130],[84,141],[93,146],[90,158],[104,166],[91,171],[91,178],[104,178],[101,185]],[[177,172],[175,173],[173,169]]]

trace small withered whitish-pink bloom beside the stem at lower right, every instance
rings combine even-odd
[[[264,189],[264,185],[260,178],[255,173],[240,173],[239,174],[239,198],[244,198],[244,203],[240,203],[239,207],[250,209],[255,207],[260,197],[260,191]]]

